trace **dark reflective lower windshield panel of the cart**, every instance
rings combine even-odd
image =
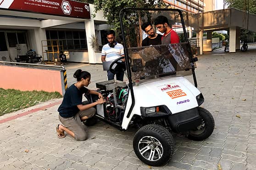
[[[191,74],[188,43],[128,48],[128,55],[133,81]]]

